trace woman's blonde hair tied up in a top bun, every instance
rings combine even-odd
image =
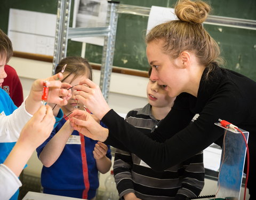
[[[222,63],[218,44],[202,25],[210,11],[210,5],[205,2],[180,0],[175,5],[179,20],[155,26],[147,34],[146,43],[162,39],[163,52],[171,58],[178,58],[183,51],[191,51],[199,64],[208,67],[210,72],[215,63]]]

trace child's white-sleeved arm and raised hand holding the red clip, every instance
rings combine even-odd
[[[16,109],[17,107],[13,108],[12,110],[15,110],[11,115],[4,116],[2,110],[0,110],[0,142],[15,142],[18,140],[22,127],[42,105],[43,81],[49,81],[49,102],[59,103],[61,105],[67,103],[67,100],[63,100],[59,96],[66,95],[68,91],[66,89],[60,89],[60,81],[54,81],[62,78],[62,76],[59,73],[46,79],[37,79],[33,83],[30,94],[25,99],[25,102],[18,109]],[[4,94],[1,94],[1,98],[4,98],[1,101],[8,101],[10,99],[10,97],[9,99],[5,98]]]

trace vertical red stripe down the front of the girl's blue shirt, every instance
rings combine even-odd
[[[81,140],[82,169],[83,169],[84,186],[85,186],[82,198],[87,199],[88,191],[90,189],[90,182],[89,182],[88,167],[87,167],[87,161],[86,161],[84,135],[81,133],[79,133],[79,135]]]

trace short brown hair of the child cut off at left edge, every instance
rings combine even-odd
[[[6,63],[12,57],[12,42],[9,37],[0,29],[0,56],[1,59],[6,57]]]

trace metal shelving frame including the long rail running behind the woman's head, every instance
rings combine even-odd
[[[118,13],[149,16],[150,7],[119,4],[119,2],[108,1],[108,15],[106,27],[95,28],[69,28],[71,0],[59,0],[57,11],[57,25],[54,43],[53,70],[62,58],[66,57],[67,41],[76,37],[105,36],[103,45],[100,89],[103,97],[108,101],[110,76],[113,66],[115,38],[117,30]],[[244,28],[256,30],[255,20],[227,18],[210,15],[205,24]]]

